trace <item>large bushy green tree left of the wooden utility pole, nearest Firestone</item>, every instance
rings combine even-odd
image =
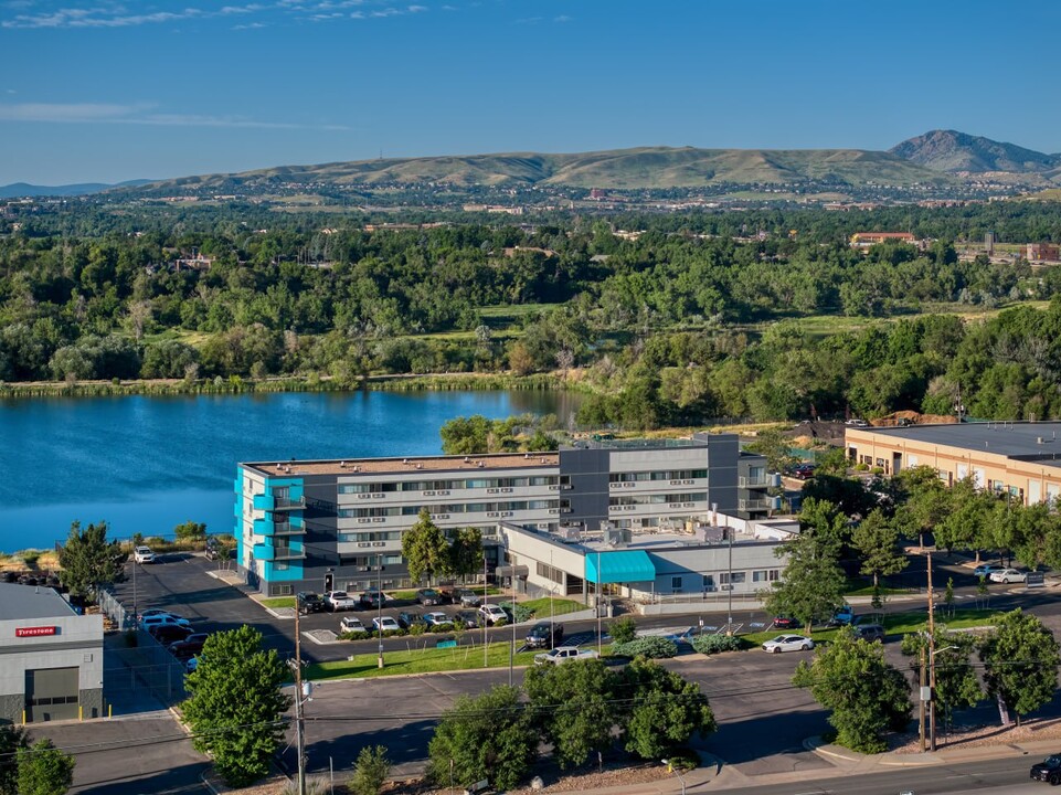
[[[280,690],[286,678],[276,649],[263,649],[262,633],[247,625],[206,638],[198,668],[185,677],[191,696],[181,709],[195,750],[213,756],[229,785],[246,786],[268,773],[291,704]]]

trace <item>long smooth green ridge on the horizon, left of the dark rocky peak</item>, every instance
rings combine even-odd
[[[574,155],[518,152],[284,166],[237,174],[166,180],[145,190],[234,189],[283,182],[571,186],[604,189],[698,188],[719,183],[829,180],[851,186],[946,184],[947,174],[894,155],[858,149],[696,149],[645,147]]]

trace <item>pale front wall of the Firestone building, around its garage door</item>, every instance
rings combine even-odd
[[[57,627],[56,634],[15,637],[19,627]],[[84,717],[103,714],[103,616],[70,615],[0,621],[0,720],[22,722],[25,672],[77,668]]]

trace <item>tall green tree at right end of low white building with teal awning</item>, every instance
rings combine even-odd
[[[785,574],[763,592],[763,600],[768,612],[791,615],[809,633],[815,621],[831,617],[844,604],[838,562],[844,516],[828,502],[808,499],[799,524],[799,536],[774,550],[785,558]]]

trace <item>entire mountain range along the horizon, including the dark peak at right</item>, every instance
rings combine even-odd
[[[573,187],[615,190],[702,188],[723,183],[815,181],[836,186],[961,186],[970,180],[1051,187],[1061,184],[1061,155],[1025,149],[955,130],[932,130],[888,151],[863,149],[698,149],[643,147],[570,155],[519,152],[466,157],[390,158],[283,166],[120,186],[19,183],[0,198],[78,195],[121,189],[140,195],[173,192],[267,191],[283,183],[386,186],[445,183],[497,187]]]

